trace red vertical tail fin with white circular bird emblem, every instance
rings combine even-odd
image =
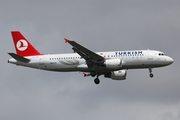
[[[19,31],[12,31],[11,34],[18,55],[23,57],[42,55],[29,43],[29,41]]]

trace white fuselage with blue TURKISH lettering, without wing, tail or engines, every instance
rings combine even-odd
[[[97,52],[105,58],[121,59],[122,67],[117,69],[138,69],[138,68],[155,68],[169,65],[173,59],[166,56],[160,51],[154,50],[131,50],[131,51],[112,51],[112,52]],[[51,54],[25,57],[30,59],[29,63],[24,63],[9,59],[8,62],[16,65],[32,67],[43,70],[70,72],[70,71],[83,71],[90,72],[93,69],[96,71],[114,71],[115,69],[108,69],[106,67],[94,66],[89,68],[86,60],[81,58],[77,53],[70,54]]]

